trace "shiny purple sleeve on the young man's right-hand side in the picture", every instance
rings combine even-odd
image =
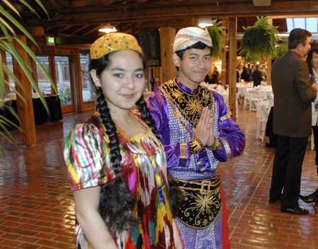
[[[220,162],[226,162],[242,154],[245,148],[245,134],[230,118],[223,97],[218,94],[213,95],[218,106],[218,139],[221,145],[221,149],[213,150],[213,154]]]

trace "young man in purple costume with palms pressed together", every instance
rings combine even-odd
[[[245,135],[217,92],[199,83],[211,68],[207,30],[177,32],[172,61],[178,76],[157,87],[148,107],[165,147],[167,166],[183,190],[177,224],[186,249],[230,248],[219,162],[242,154]]]

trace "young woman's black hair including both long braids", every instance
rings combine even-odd
[[[96,75],[100,77],[102,71],[110,65],[110,57],[112,53],[102,56],[100,59],[90,60],[90,70],[95,70]],[[146,68],[146,62],[141,55],[143,61],[143,68]],[[129,226],[137,224],[139,220],[134,218],[133,209],[135,205],[135,198],[133,193],[129,190],[129,187],[120,175],[122,166],[120,162],[122,161],[122,156],[119,150],[119,139],[117,136],[117,129],[110,115],[110,109],[105,101],[104,94],[101,87],[96,87],[97,104],[98,110],[100,112],[100,119],[106,128],[106,135],[110,140],[110,162],[112,163],[112,170],[114,171],[115,178],[110,181],[110,183],[105,184],[102,188],[101,198],[100,198],[100,215],[105,220],[107,228],[111,233],[116,233],[117,231],[123,231]],[[136,106],[141,112],[141,119],[146,121],[148,126],[151,128],[155,136],[160,139],[158,135],[155,123],[149,113],[148,107],[146,105],[143,96],[136,102]],[[169,181],[172,181],[169,178]],[[171,190],[170,190],[171,191]],[[177,198],[179,198],[179,193],[177,193]],[[172,210],[176,209],[176,205],[172,203]]]

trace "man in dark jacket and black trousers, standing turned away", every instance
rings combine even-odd
[[[288,52],[275,61],[271,80],[275,99],[273,133],[278,144],[273,161],[269,202],[281,200],[281,212],[307,214],[298,204],[302,162],[312,134],[312,102],[318,86],[310,85],[309,69],[302,57],[310,49],[312,34],[296,28],[288,37]]]

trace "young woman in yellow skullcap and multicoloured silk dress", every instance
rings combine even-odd
[[[90,59],[99,112],[71,130],[64,150],[78,248],[183,248],[165,152],[142,96],[141,48],[131,35],[110,33]]]

